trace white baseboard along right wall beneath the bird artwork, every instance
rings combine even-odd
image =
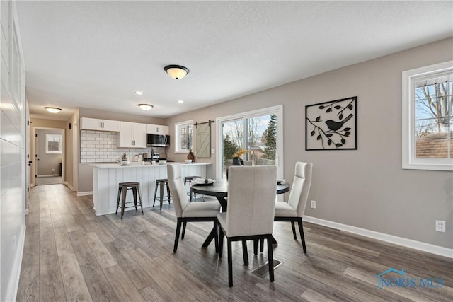
[[[406,248],[413,248],[415,250],[422,250],[423,252],[430,252],[435,255],[453,258],[453,249],[444,248],[439,245],[432,245],[430,243],[423,243],[420,241],[407,239],[403,237],[393,236],[386,233],[379,233],[376,231],[370,231],[366,228],[357,228],[356,226],[348,226],[347,224],[338,223],[334,221],[328,221],[319,219],[312,216],[304,216],[304,221],[319,224],[321,226],[328,226],[329,228],[336,228],[340,231],[346,231],[349,233],[355,233],[360,236],[365,236],[377,240],[382,240],[388,243],[394,243],[396,245],[402,245]]]

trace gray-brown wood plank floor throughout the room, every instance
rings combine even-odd
[[[308,253],[292,238],[290,223],[275,223],[275,281],[243,266],[234,245],[234,287],[227,259],[214,245],[201,248],[212,223],[188,223],[173,254],[173,204],[96,216],[91,196],[64,185],[33,187],[17,301],[452,301],[453,260],[343,231],[304,223]],[[226,250],[224,251],[226,255]],[[404,269],[416,286],[378,287],[386,269]],[[387,277],[399,277],[391,273]],[[419,279],[442,278],[428,288]],[[440,284],[437,284],[440,285]]]

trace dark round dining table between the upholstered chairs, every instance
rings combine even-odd
[[[214,183],[212,184],[200,184],[197,182],[192,182],[190,183],[190,190],[193,193],[216,197],[220,205],[222,206],[222,211],[226,211],[228,204],[228,202],[226,201],[226,197],[228,197],[228,181],[226,179],[214,180]],[[289,183],[277,182],[276,194],[284,194],[286,192],[289,192]],[[217,230],[212,228],[212,231],[207,236],[205,242],[202,244],[203,248],[206,248],[210,244],[212,239],[214,239],[215,232],[217,232]],[[277,243],[277,241],[273,239],[273,243]]]

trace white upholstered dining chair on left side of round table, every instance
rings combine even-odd
[[[212,221],[214,230],[217,230],[217,214],[220,211],[219,202],[188,202],[187,192],[185,192],[184,179],[181,177],[181,167],[179,163],[167,164],[168,185],[170,185],[171,197],[176,214],[176,236],[173,252],[178,250],[179,234],[181,223],[183,233],[181,240],[184,239],[185,225],[193,221]],[[214,235],[215,250],[219,250],[219,240],[217,232]]]

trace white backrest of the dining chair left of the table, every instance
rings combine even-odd
[[[184,180],[181,177],[181,166],[179,163],[167,164],[168,185],[170,185],[171,199],[175,208],[176,217],[182,217],[185,207],[189,204],[185,192]]]

